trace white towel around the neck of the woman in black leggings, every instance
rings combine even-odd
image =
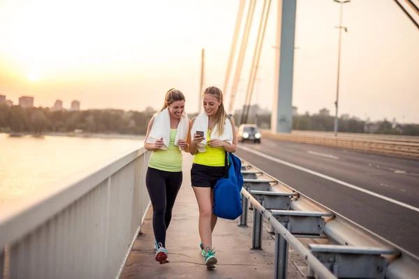
[[[180,117],[179,125],[177,126],[177,133],[175,137],[175,146],[179,140],[186,140],[188,137],[189,130],[189,119],[188,114],[184,111]],[[156,140],[163,138],[163,145],[160,149],[167,150],[170,143],[170,112],[168,108],[162,110],[156,116],[154,116],[152,130],[150,130],[149,136],[147,137],[146,142],[149,144],[154,144]],[[183,149],[179,146],[179,150]]]

